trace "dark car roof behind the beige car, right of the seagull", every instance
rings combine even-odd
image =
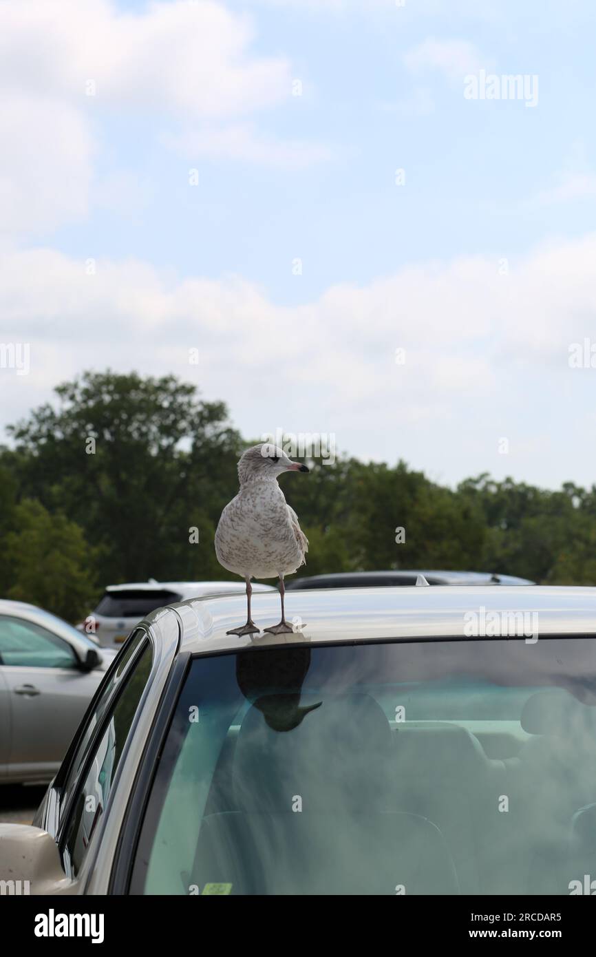
[[[424,582],[417,581],[420,577]],[[380,585],[534,585],[529,578],[484,571],[337,571],[326,575],[292,578],[286,590],[372,589]]]

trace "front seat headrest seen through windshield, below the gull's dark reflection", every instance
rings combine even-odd
[[[386,792],[379,779],[390,748],[386,715],[369,695],[265,696],[240,726],[233,763],[237,806],[369,810]]]

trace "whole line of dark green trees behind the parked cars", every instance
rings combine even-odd
[[[0,596],[75,621],[106,585],[233,577],[213,535],[238,457],[259,436],[240,435],[223,403],[172,375],[90,371],[9,434]],[[451,568],[596,584],[596,486],[483,474],[450,489],[403,461],[349,456],[294,478],[280,483],[310,540],[299,574]]]

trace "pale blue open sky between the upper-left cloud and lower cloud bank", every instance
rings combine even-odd
[[[146,5],[120,6],[143,11]],[[293,78],[306,87],[301,98],[260,114],[259,127],[328,146],[327,162],[297,174],[210,161],[191,150],[173,155],[156,134],[175,122],[156,118],[150,103],[143,116],[110,111],[101,118],[110,149],[99,170],[141,174],[153,187],[151,202],[124,221],[118,211],[98,210],[91,222],[58,231],[60,248],[77,255],[92,235],[98,255],[134,253],[182,276],[197,269],[212,278],[239,273],[266,284],[276,302],[292,303],[319,296],[329,284],[368,282],[420,259],[519,255],[541,241],[545,226],[564,234],[589,226],[585,197],[557,205],[546,222],[543,209],[520,209],[552,189],[566,166],[596,164],[594,125],[586,122],[593,65],[585,20],[563,16],[561,4],[538,2],[528,5],[532,16],[512,20],[501,11],[485,21],[454,19],[447,3],[437,5],[436,16],[424,16],[413,2],[373,6],[372,15],[366,3],[321,6],[305,11],[298,3],[265,2],[230,9],[252,16],[254,52],[288,58]],[[412,76],[404,56],[428,36],[463,37],[499,72],[538,73],[540,108],[503,102],[486,110],[464,100],[461,83],[446,83],[436,69]],[[432,100],[431,112],[404,115],[409,100],[415,111],[416,91]],[[195,192],[188,190],[188,165],[200,169]],[[406,189],[395,188],[398,167],[406,170]],[[294,256],[304,260],[300,282],[287,268]]]

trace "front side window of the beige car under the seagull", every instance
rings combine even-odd
[[[151,658],[151,646],[147,643],[139,660],[126,675],[105,730],[94,741],[84,782],[77,786],[63,847],[67,871],[73,877],[80,869],[105,812],[128,732],[149,677]]]

